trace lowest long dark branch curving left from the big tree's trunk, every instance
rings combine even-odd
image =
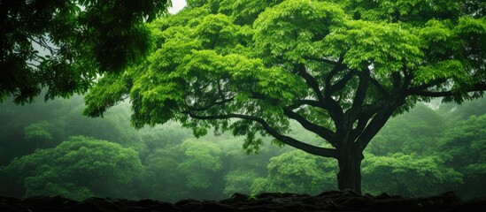
[[[302,141],[291,138],[289,136],[282,135],[281,133],[278,133],[272,126],[268,125],[268,123],[266,123],[266,121],[263,118],[260,118],[260,117],[252,117],[252,116],[242,115],[242,114],[198,116],[198,115],[190,113],[190,112],[184,112],[184,113],[188,114],[189,117],[196,118],[196,119],[202,119],[202,120],[242,118],[242,119],[246,119],[246,120],[255,121],[258,124],[262,125],[263,128],[266,130],[266,132],[270,133],[272,136],[274,136],[275,139],[280,140],[280,141],[282,141],[282,143],[287,144],[291,147],[301,149],[301,150],[303,150],[307,153],[310,153],[312,155],[320,155],[320,156],[333,157],[333,158],[336,158],[336,156],[337,156],[336,149],[315,147],[315,146],[312,146],[310,144],[306,144]]]

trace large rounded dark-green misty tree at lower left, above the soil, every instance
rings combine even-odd
[[[91,195],[127,196],[124,186],[142,170],[135,150],[81,136],[71,137],[56,148],[15,158],[3,169],[24,182],[25,197],[63,194],[75,200]]]

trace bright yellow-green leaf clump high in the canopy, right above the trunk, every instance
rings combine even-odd
[[[326,37],[325,52],[332,57],[345,53],[343,62],[350,68],[363,69],[373,65],[377,79],[383,79],[403,68],[415,68],[423,53],[413,28],[397,23],[374,23],[348,20],[345,27],[336,28]],[[387,83],[383,83],[387,84]]]

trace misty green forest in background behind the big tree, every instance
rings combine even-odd
[[[83,107],[82,96],[0,105],[0,195],[177,201],[337,189],[335,160],[268,138],[255,154],[228,133],[197,139],[172,122],[135,130],[128,103],[104,118],[81,116]],[[485,98],[419,104],[391,118],[366,149],[363,192],[484,196],[485,129]],[[305,130],[291,134],[324,145]]]

